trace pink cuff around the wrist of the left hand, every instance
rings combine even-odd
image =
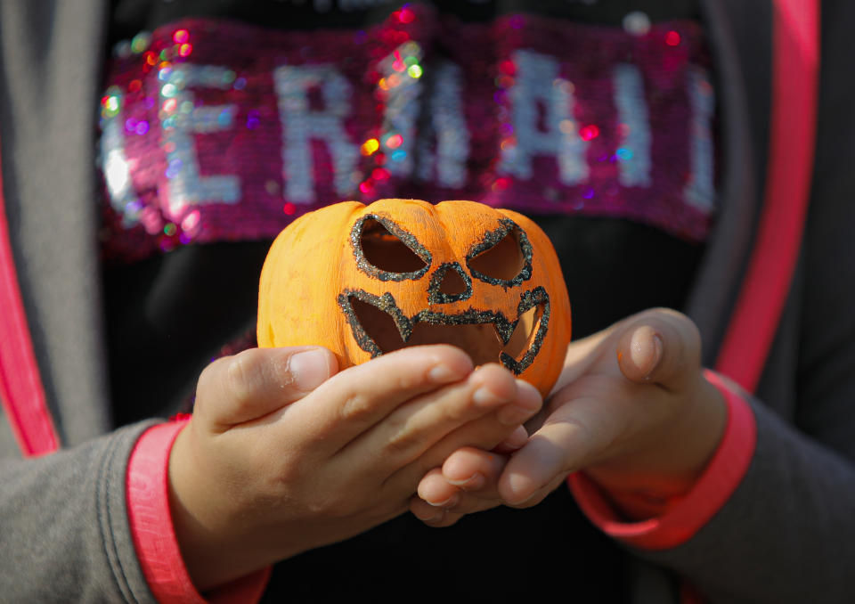
[[[169,452],[186,420],[146,430],[134,446],[127,466],[127,515],[142,573],[162,604],[237,604],[257,602],[265,591],[270,568],[224,584],[203,598],[193,586],[178,548],[169,510]]]

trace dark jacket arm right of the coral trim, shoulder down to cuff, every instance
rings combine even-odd
[[[823,2],[821,19],[809,216],[760,396],[746,396],[753,457],[687,540],[657,551],[628,546],[710,602],[855,601],[855,85],[845,76],[855,4]]]

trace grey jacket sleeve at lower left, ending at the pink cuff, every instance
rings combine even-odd
[[[134,551],[126,468],[150,423],[0,461],[0,594],[13,602],[154,602]]]

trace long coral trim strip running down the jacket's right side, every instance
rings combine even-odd
[[[819,0],[775,0],[766,199],[716,371],[754,391],[784,311],[810,195],[819,78]]]

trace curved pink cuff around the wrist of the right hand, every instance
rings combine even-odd
[[[662,516],[626,522],[589,477],[576,472],[567,478],[582,511],[607,535],[645,550],[665,550],[680,545],[721,510],[745,476],[757,442],[757,426],[751,407],[731,391],[719,375],[712,371],[706,371],[704,375],[719,389],[727,403],[728,421],[724,436],[695,485],[678,502],[669,505]]]

